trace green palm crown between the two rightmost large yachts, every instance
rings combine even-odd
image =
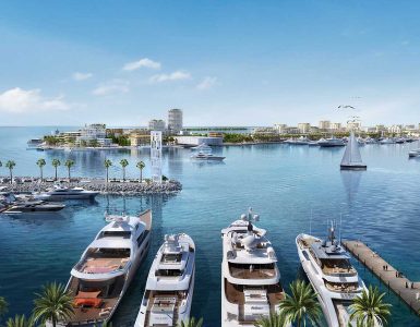
[[[280,302],[280,311],[291,323],[298,327],[305,325],[307,318],[315,325],[321,317],[321,305],[312,287],[303,280],[296,280],[290,284],[291,295]]]

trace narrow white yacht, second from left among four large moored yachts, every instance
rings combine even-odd
[[[190,318],[195,245],[187,234],[165,235],[148,272],[134,327],[176,327]]]

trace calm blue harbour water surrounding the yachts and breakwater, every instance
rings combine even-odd
[[[25,150],[29,137],[48,133],[50,128],[1,128],[0,160],[14,159],[16,174],[38,174],[35,161],[45,157],[76,161],[74,175],[101,177],[107,156],[116,162],[110,174],[121,175],[117,162],[130,161],[128,174],[136,177],[137,160],[147,165],[148,152],[62,152]],[[164,173],[178,179],[183,191],[176,196],[99,196],[94,204],[69,203],[61,215],[50,219],[0,217],[0,295],[11,304],[10,314],[29,313],[34,292],[47,281],[67,282],[80,255],[105,225],[107,207],[136,214],[152,208],[153,246],[147,261],[124,296],[115,325],[134,320],[143,295],[148,268],[166,233],[187,232],[197,246],[196,280],[192,313],[204,316],[206,326],[219,326],[220,316],[220,229],[249,206],[261,215],[279,258],[284,284],[302,276],[295,246],[298,233],[326,232],[328,219],[343,219],[343,237],[368,242],[383,257],[412,280],[420,280],[420,159],[408,159],[411,145],[367,145],[361,149],[369,165],[365,172],[343,173],[338,169],[343,148],[288,145],[225,147],[225,164],[194,164],[188,149],[164,153]],[[46,174],[53,173],[46,167]],[[0,174],[5,174],[4,167]],[[62,167],[60,173],[65,175]],[[380,284],[364,271],[367,283]],[[382,287],[385,291],[385,289]],[[420,319],[393,294],[393,326],[420,326]]]

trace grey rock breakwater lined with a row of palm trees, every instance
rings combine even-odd
[[[52,187],[55,184],[60,184],[65,187],[83,187],[88,191],[96,191],[103,194],[171,194],[178,193],[182,190],[182,184],[176,180],[163,181],[161,183],[154,183],[149,180],[109,180],[104,179],[82,179],[72,178],[69,180],[43,180],[34,178],[15,178],[13,183],[10,181],[0,181],[0,187],[2,191],[14,193],[28,193],[28,192],[45,192]]]

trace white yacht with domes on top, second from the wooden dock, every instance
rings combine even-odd
[[[247,215],[221,230],[221,326],[254,326],[262,317],[279,312],[285,298],[276,253],[266,231]]]

